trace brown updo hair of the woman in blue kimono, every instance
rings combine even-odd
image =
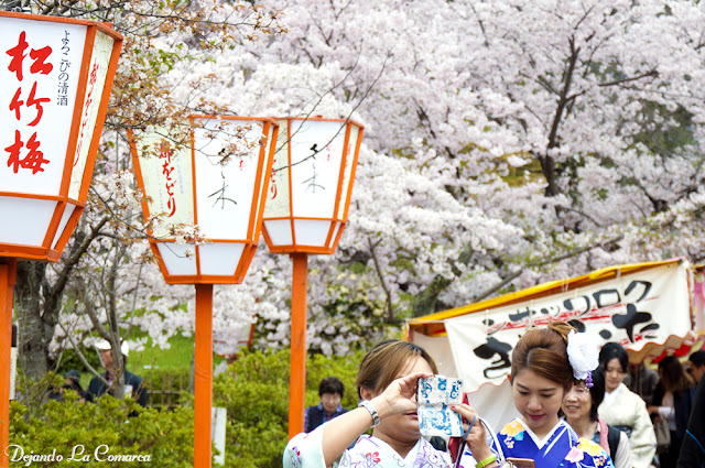
[[[511,353],[511,380],[529,369],[563,385],[567,392],[574,378],[566,348],[568,333],[574,329],[565,322],[551,322],[546,328],[529,328]]]

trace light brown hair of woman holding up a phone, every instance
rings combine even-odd
[[[438,368],[431,355],[419,345],[398,339],[387,339],[375,345],[362,358],[360,370],[357,372],[355,387],[357,387],[358,398],[362,398],[361,389],[381,393],[400,377],[409,366],[410,359],[415,357],[425,359],[433,373],[438,373]]]

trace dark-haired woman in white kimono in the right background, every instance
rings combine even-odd
[[[605,400],[597,407],[607,424],[627,433],[634,468],[650,468],[657,453],[657,435],[647,403],[623,384],[629,355],[618,342],[607,342],[599,350],[599,366],[605,376]]]

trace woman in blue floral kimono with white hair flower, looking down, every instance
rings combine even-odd
[[[489,440],[482,425],[476,424],[459,466],[496,468],[505,458],[529,458],[536,468],[614,468],[599,445],[581,438],[558,417],[573,383],[587,380],[592,384],[588,376],[596,367],[597,346],[568,324],[554,322],[547,328],[530,328],[511,357],[512,396],[521,416]],[[469,406],[456,407],[470,421]]]

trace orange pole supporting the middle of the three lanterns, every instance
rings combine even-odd
[[[196,284],[194,468],[210,468],[213,406],[213,284]]]

